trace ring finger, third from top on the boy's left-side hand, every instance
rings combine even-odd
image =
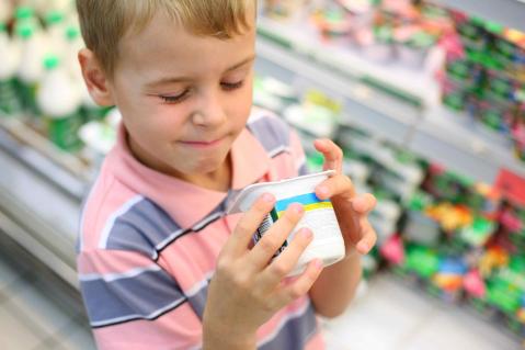
[[[300,255],[313,239],[313,233],[308,228],[297,232],[286,249],[270,263],[261,273],[263,289],[271,291],[297,266]]]

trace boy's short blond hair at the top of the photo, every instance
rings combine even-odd
[[[227,39],[249,29],[251,9],[256,9],[256,0],[77,0],[85,46],[109,76],[116,66],[119,41],[140,33],[158,12],[192,34]]]

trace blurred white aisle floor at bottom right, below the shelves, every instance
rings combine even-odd
[[[329,350],[513,350],[520,341],[478,315],[377,274],[341,317],[327,323]]]

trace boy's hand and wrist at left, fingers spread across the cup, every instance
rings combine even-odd
[[[275,197],[263,194],[239,221],[222,247],[208,289],[204,312],[204,349],[250,349],[255,332],[277,311],[305,295],[319,276],[322,263],[311,261],[290,283],[283,283],[310,244],[312,233],[303,228],[286,249],[272,257],[304,214],[300,204],[292,204],[259,242],[249,249],[253,233],[273,208]],[[221,346],[220,346],[221,345]]]

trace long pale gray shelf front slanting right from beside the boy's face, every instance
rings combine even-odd
[[[344,100],[345,121],[442,163],[473,180],[493,183],[501,168],[525,174],[504,137],[441,105],[418,108],[354,77],[319,65],[271,39],[259,38],[255,69],[294,84],[321,88]]]

